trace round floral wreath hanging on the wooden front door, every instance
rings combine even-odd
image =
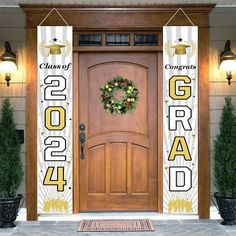
[[[132,80],[124,79],[122,76],[115,76],[108,80],[100,88],[101,101],[104,109],[111,114],[126,114],[135,110],[139,100],[139,91]],[[117,100],[115,95],[118,91],[123,91],[123,98]]]

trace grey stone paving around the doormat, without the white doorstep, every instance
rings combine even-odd
[[[18,221],[14,229],[0,229],[0,236],[74,235],[157,235],[157,236],[235,236],[235,226],[222,226],[219,220],[154,220],[155,232],[79,233],[75,221]]]

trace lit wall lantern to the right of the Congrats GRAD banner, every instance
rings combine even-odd
[[[220,69],[226,72],[228,84],[231,84],[232,70],[236,69],[236,55],[231,51],[230,40],[225,43],[225,50],[220,54]]]

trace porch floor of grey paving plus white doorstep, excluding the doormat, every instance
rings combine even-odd
[[[155,232],[135,233],[79,233],[79,221],[86,219],[151,219]],[[210,220],[199,220],[197,215],[169,215],[157,212],[80,213],[77,215],[41,215],[39,221],[26,221],[26,209],[19,212],[14,229],[0,229],[0,236],[74,236],[74,235],[157,235],[157,236],[236,236],[236,225],[222,226],[214,206]]]

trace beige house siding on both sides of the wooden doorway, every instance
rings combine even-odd
[[[236,74],[231,86],[228,86],[224,73],[218,69],[218,52],[224,49],[225,41],[231,40],[232,50],[236,51],[236,8],[215,8],[210,13],[210,150],[211,150],[211,192],[213,185],[213,140],[218,133],[224,97],[230,95],[236,107]],[[12,76],[10,87],[0,72],[0,105],[5,97],[10,97],[14,108],[14,116],[18,129],[25,131],[26,126],[26,51],[25,51],[25,14],[20,8],[0,8],[0,54],[4,50],[4,41],[9,40],[13,51],[18,54],[18,71]],[[25,139],[25,143],[27,140]],[[21,157],[26,169],[25,144],[22,146]],[[19,192],[25,194],[25,176]]]

